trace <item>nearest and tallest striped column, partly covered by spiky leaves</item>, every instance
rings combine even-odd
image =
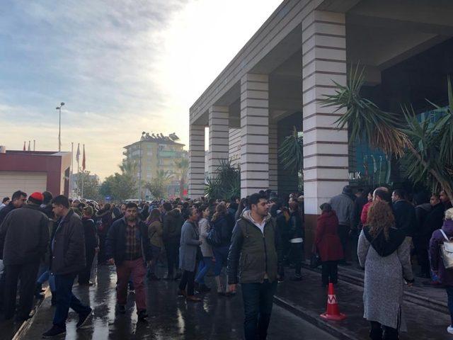
[[[348,129],[337,130],[335,124],[345,111],[324,108],[318,101],[335,93],[333,80],[346,84],[346,77],[345,14],[311,12],[302,21],[304,208],[309,229],[316,226],[319,205],[348,184]]]

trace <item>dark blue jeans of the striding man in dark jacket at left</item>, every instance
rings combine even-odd
[[[69,308],[77,314],[86,314],[91,308],[83,305],[82,302],[72,293],[72,285],[76,274],[55,275],[55,286],[57,288],[57,307],[55,308],[53,323],[58,327],[66,327]]]

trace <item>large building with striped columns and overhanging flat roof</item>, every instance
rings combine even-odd
[[[430,107],[425,98],[445,104],[452,14],[453,3],[442,0],[282,1],[190,108],[190,197],[203,195],[205,148],[210,175],[238,149],[231,146],[233,129],[240,131],[241,196],[297,191],[297,174],[282,169],[277,149],[293,126],[303,132],[308,231],[319,205],[365,171],[374,183],[398,177],[391,159],[349,145],[348,127],[336,126],[345,109],[319,99],[335,93],[334,82],[346,85],[359,64],[366,72],[362,91],[384,110],[401,112],[401,103],[412,103],[421,114]]]

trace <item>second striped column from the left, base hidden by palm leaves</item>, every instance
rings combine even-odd
[[[215,176],[222,159],[229,157],[229,109],[228,106],[212,106],[209,110],[210,146],[207,157],[209,176]]]

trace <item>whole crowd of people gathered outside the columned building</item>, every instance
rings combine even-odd
[[[96,203],[52,197],[49,192],[16,191],[0,205],[1,306],[6,319],[30,317],[33,298],[42,298],[48,281],[55,305],[52,327],[44,337],[66,331],[69,308],[84,328],[91,307],[72,293],[74,281],[93,285],[91,269],[115,266],[117,313],[126,312],[128,290],[134,290],[137,317],[147,320],[146,282],[179,280],[175,295],[200,302],[214,290],[232,297],[241,285],[244,333],[266,339],[279,281],[301,281],[305,254],[321,264],[321,285],[338,283],[338,265],[365,268],[364,317],[372,339],[398,339],[406,325],[403,285],[412,285],[411,254],[428,285],[447,290],[453,324],[453,269],[440,248],[453,237],[453,209],[447,193],[418,193],[409,200],[402,190],[376,188],[340,195],[320,207],[311,249],[305,249],[304,198],[277,197],[270,190],[229,200],[159,200],[149,203]],[[159,263],[166,263],[160,277]],[[205,280],[212,271],[214,287]],[[292,271],[291,271],[292,272]],[[453,333],[452,325],[447,329]]]

